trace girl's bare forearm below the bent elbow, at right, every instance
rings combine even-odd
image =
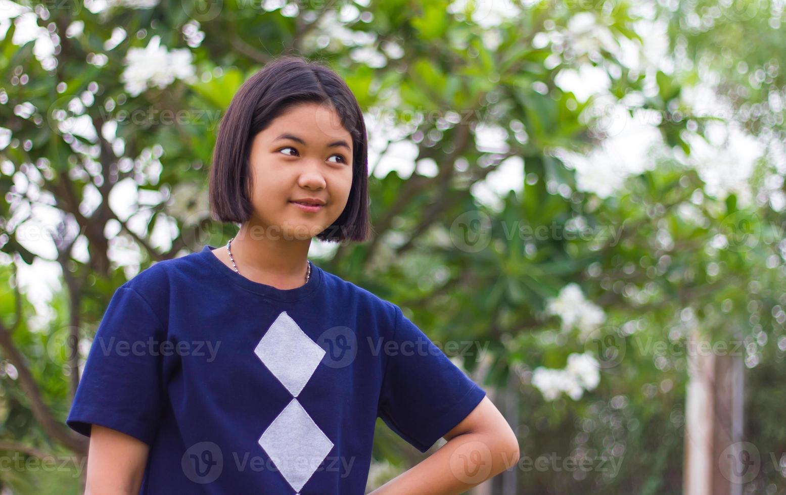
[[[483,433],[458,435],[369,495],[457,495],[516,464],[518,449]]]

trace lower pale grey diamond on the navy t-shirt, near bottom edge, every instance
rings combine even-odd
[[[303,488],[333,448],[296,398],[259,437],[259,445],[295,491]]]

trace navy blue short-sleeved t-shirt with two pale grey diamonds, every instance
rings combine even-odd
[[[288,290],[202,251],[142,270],[66,423],[149,444],[140,493],[364,493],[376,418],[421,453],[486,395],[399,306],[312,264]]]

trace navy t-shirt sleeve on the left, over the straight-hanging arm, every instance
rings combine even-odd
[[[133,288],[118,288],[98,325],[66,424],[90,436],[90,425],[152,445],[160,421],[163,325]]]

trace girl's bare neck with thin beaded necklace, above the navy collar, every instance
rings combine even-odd
[[[288,240],[281,233],[271,238],[263,234],[266,230],[249,222],[241,226],[230,245],[237,270],[254,281],[278,288],[303,285],[311,238]]]

